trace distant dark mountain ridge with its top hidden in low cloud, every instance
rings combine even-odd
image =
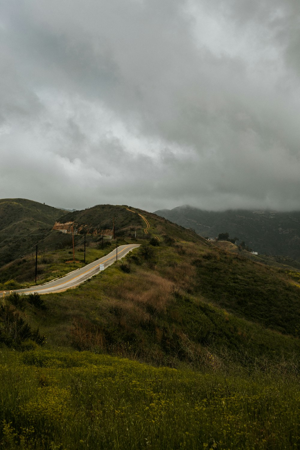
[[[192,228],[203,237],[228,232],[239,238],[237,243],[245,241],[256,252],[300,261],[300,211],[204,211],[184,205],[161,209],[155,214]]]

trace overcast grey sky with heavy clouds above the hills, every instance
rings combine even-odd
[[[300,209],[297,0],[1,0],[0,198]]]

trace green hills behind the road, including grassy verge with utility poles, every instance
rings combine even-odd
[[[144,242],[144,239],[149,239],[152,235],[155,237],[165,233],[185,240],[201,239],[191,230],[127,205],[96,205],[81,211],[66,212],[23,199],[3,200],[2,204],[3,210],[4,207],[6,210],[4,235],[1,236],[0,242],[0,283],[13,278],[17,284],[10,284],[11,289],[17,288],[19,283],[34,284],[36,244],[37,280],[43,283],[51,277],[63,276],[68,271],[84,265],[83,234],[86,234],[86,247],[89,247],[86,262],[97,259],[103,244],[107,252],[111,241],[104,239],[102,243],[102,234],[105,238],[112,238],[113,224],[115,237],[119,240],[130,238]],[[151,219],[151,229],[148,229],[143,214],[147,214],[149,220]],[[72,227],[76,252],[74,262],[70,256]],[[6,284],[5,289],[8,289],[7,286]]]

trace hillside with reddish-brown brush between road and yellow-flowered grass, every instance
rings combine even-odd
[[[142,244],[139,249],[89,282],[43,297],[46,309],[35,311],[24,298],[19,313],[45,333],[49,345],[172,366],[180,361],[206,365],[212,351],[224,367],[224,353],[231,355],[228,361],[246,365],[261,355],[272,360],[274,352],[280,359],[283,349],[287,359],[298,353],[299,271],[265,266],[231,243],[216,247],[193,231],[142,212],[160,241],[135,241]],[[86,262],[110,248],[102,250],[97,241],[87,247]],[[82,266],[82,252],[77,255],[80,261],[70,266],[66,251],[44,254],[40,283],[53,277],[54,269],[60,274]],[[18,268],[22,272],[22,264]]]

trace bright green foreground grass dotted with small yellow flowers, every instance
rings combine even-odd
[[[5,449],[287,449],[300,388],[287,379],[154,368],[89,352],[0,350]]]

